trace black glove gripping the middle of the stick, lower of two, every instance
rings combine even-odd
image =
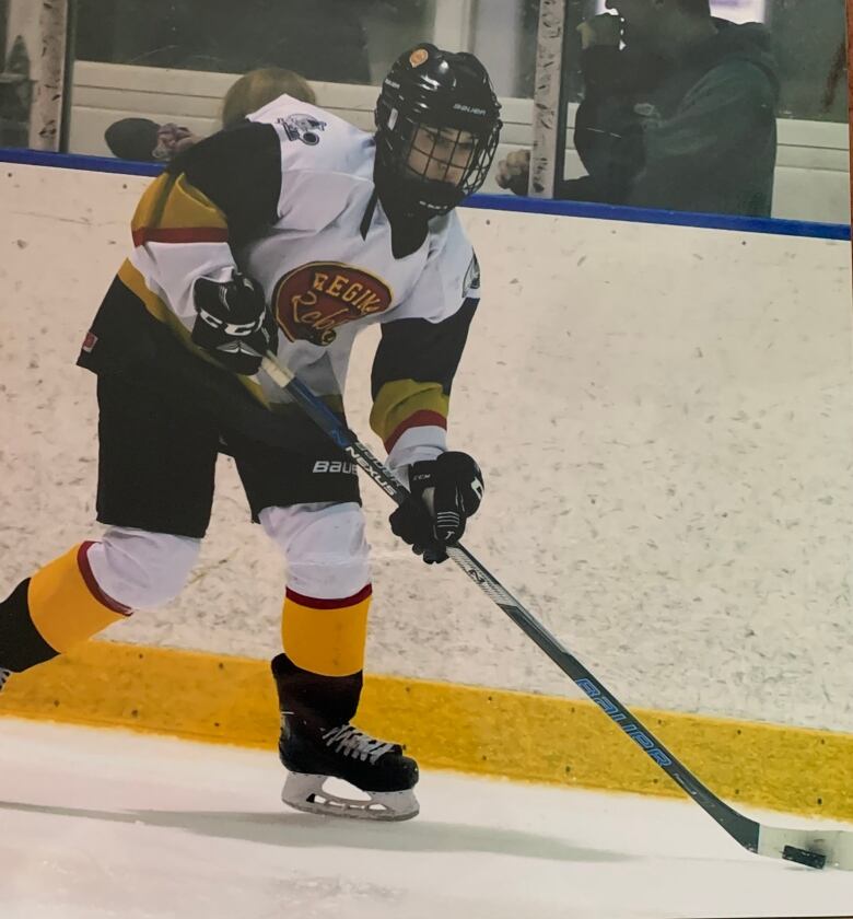
[[[390,515],[392,531],[426,565],[446,561],[483,495],[480,467],[467,453],[442,453],[409,466],[411,498]]]

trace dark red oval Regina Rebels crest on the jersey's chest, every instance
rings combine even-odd
[[[291,341],[331,345],[344,323],[384,313],[392,302],[385,281],[340,261],[312,261],[276,284],[272,309]]]

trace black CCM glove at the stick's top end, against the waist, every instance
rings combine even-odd
[[[260,284],[234,271],[224,282],[199,278],[192,295],[198,313],[192,341],[233,373],[257,373],[264,353],[274,351],[277,336]]]

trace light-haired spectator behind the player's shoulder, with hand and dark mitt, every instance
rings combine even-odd
[[[234,127],[246,115],[257,112],[280,95],[293,96],[312,105],[316,102],[314,90],[292,70],[280,67],[250,70],[225,93],[222,100],[222,127]],[[167,163],[201,138],[189,128],[172,121],[157,125],[150,118],[121,118],[106,129],[104,140],[119,160]]]

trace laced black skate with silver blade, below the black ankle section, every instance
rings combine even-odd
[[[351,724],[315,728],[282,714],[279,757],[288,770],[281,800],[297,811],[371,821],[408,821],[419,806],[412,789],[418,764],[399,744],[371,737]],[[342,779],[366,798],[324,789]]]

